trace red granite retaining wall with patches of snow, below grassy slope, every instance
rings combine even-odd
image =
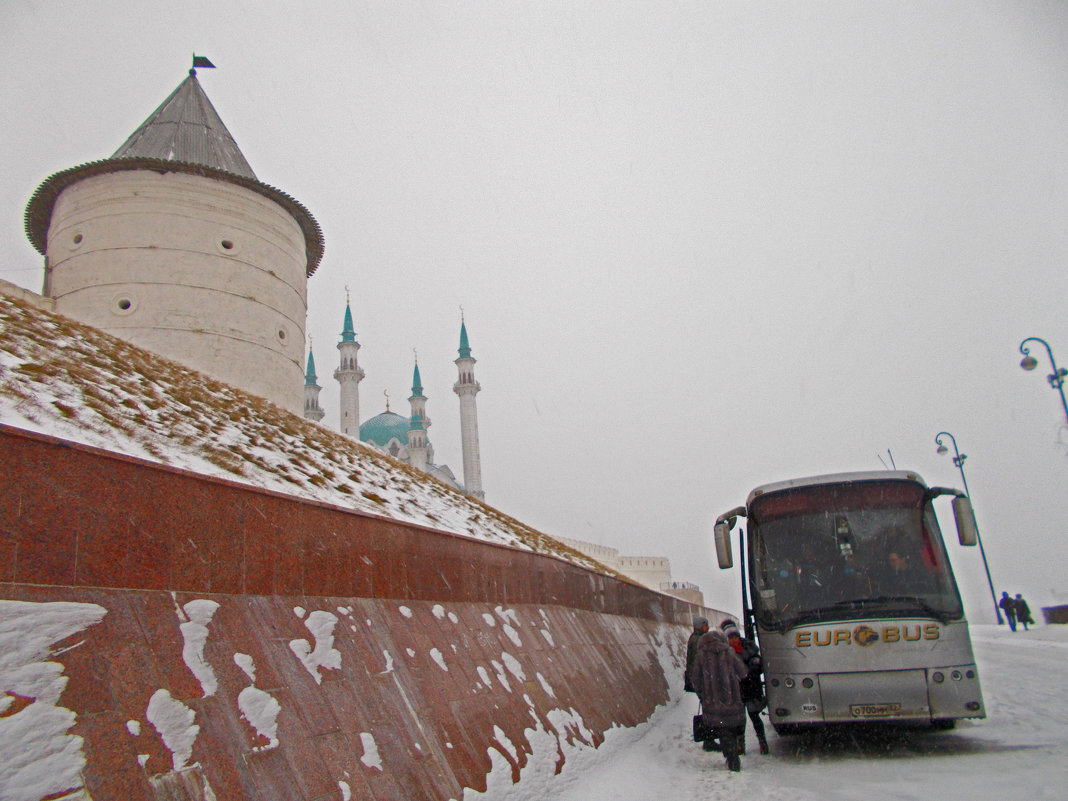
[[[645,720],[693,611],[0,425],[0,798],[470,798]]]

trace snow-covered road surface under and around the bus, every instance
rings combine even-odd
[[[1007,627],[974,626],[972,640],[988,718],[962,721],[952,732],[886,729],[853,736],[847,729],[834,738],[778,737],[769,725],[771,754],[760,756],[750,725],[742,771],[729,773],[720,754],[705,753],[690,739],[696,700],[675,687],[671,703],[649,722],[610,732],[596,751],[568,754],[557,776],[532,764],[520,784],[512,785],[507,771],[497,767],[485,798],[1068,798],[1068,626],[1015,634]],[[466,801],[475,798],[482,796],[465,796]]]

